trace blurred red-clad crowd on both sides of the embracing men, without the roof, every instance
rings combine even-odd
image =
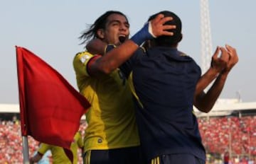
[[[207,163],[223,163],[225,151],[232,163],[256,163],[256,116],[200,117],[198,125],[208,154]],[[86,122],[80,126],[84,135]],[[29,155],[38,148],[38,141],[28,136]],[[82,163],[81,151],[79,163]],[[21,126],[16,117],[0,120],[0,163],[23,163]]]

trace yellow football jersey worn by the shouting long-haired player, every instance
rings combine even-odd
[[[80,93],[92,105],[86,113],[84,151],[139,146],[132,93],[126,78],[119,69],[102,78],[90,76],[87,63],[92,57],[89,52],[81,52],[73,60]]]

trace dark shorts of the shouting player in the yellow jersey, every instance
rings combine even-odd
[[[140,147],[114,148],[109,150],[87,151],[84,156],[84,164],[141,164],[142,155]]]

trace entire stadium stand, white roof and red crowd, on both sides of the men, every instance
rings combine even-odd
[[[230,153],[233,163],[242,160],[256,163],[256,102],[223,100],[207,114],[196,108],[195,113],[208,154],[207,163],[222,163],[225,151]],[[86,123],[80,126],[82,135],[86,126]],[[28,136],[28,145],[32,155],[38,141]],[[0,104],[0,163],[22,163],[22,151],[19,106]]]

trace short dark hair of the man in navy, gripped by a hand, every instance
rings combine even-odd
[[[168,31],[174,33],[174,35],[172,35],[172,36],[163,35],[163,36],[160,36],[160,37],[157,37],[156,39],[154,39],[154,41],[156,42],[156,45],[167,46],[167,47],[176,46],[178,44],[178,42],[180,42],[181,39],[182,39],[181,19],[178,18],[178,16],[175,13],[171,12],[171,11],[161,11],[159,13],[164,14],[164,17],[171,16],[173,18],[173,20],[166,22],[165,25],[176,25],[176,29],[168,30]],[[149,21],[156,18],[156,16],[159,13],[156,13],[153,16],[150,16]]]

